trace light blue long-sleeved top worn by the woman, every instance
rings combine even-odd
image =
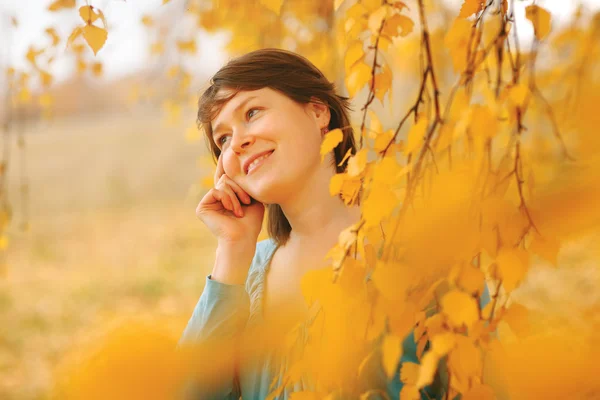
[[[256,252],[245,285],[228,285],[206,277],[206,286],[200,296],[192,316],[183,331],[179,346],[210,338],[227,339],[233,337],[246,327],[260,323],[262,320],[262,304],[265,276],[270,266],[271,257],[277,245],[272,239],[258,242]],[[481,307],[489,302],[487,287],[481,296]],[[414,334],[411,332],[403,341],[402,362],[419,363]],[[186,399],[264,399],[271,392],[271,382],[277,377],[278,387],[290,360],[287,356],[269,354],[259,364],[241,366],[232,370],[225,384],[218,389],[206,393],[201,387],[190,382],[186,388]],[[378,364],[368,376],[368,387],[379,388],[388,393],[390,399],[398,399],[403,383],[400,381],[400,368],[391,380],[386,378],[381,364]],[[439,390],[439,380],[421,391],[423,399],[441,399],[443,392]],[[311,390],[309,382],[297,382],[293,387],[286,387],[278,400],[287,400],[292,392]],[[373,397],[371,397],[373,398]]]

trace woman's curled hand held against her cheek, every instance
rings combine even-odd
[[[219,156],[215,187],[200,200],[196,215],[220,244],[243,244],[254,248],[262,227],[264,205],[252,199],[225,174]]]

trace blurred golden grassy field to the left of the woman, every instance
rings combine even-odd
[[[65,352],[127,316],[175,318],[181,331],[212,268],[197,220],[203,142],[160,111],[27,127],[30,229],[13,149],[14,221],[0,280],[0,399],[45,398]]]

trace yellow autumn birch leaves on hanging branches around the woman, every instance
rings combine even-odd
[[[66,45],[97,54],[110,29],[101,10],[75,3],[58,0],[50,10],[78,10],[81,26]],[[421,398],[436,377],[448,399],[600,395],[597,303],[581,306],[575,324],[543,304],[533,310],[517,301],[536,265],[573,267],[561,249],[598,227],[599,14],[580,9],[558,29],[543,5],[513,0],[465,0],[460,9],[426,0],[185,7],[198,28],[231,31],[232,54],[290,48],[354,99],[360,149],[347,154],[330,193],[360,202],[362,219],[341,232],[331,266],[304,277],[311,318],[277,342],[288,349],[301,333],[314,339],[285,385],[315,374],[315,392],[294,398],[383,396],[356,383],[374,359],[388,378],[399,374],[401,399]],[[155,29],[151,16],[142,21]],[[151,52],[177,47],[183,57],[202,45],[193,37],[154,42]],[[10,73],[14,101],[27,101],[26,84]],[[179,82],[165,100],[173,116],[194,103],[197,88],[182,65],[166,73]],[[329,132],[321,154],[341,139],[340,130]],[[595,249],[585,251],[598,268]],[[486,285],[491,298],[482,308]],[[411,332],[418,364],[400,362]],[[127,345],[119,346],[126,357]],[[198,374],[211,367],[194,364]],[[151,393],[152,384],[144,387]],[[273,398],[282,390],[273,387]]]

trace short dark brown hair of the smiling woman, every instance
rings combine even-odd
[[[347,160],[341,163],[344,155],[349,149],[352,154],[356,153],[354,132],[348,115],[351,111],[350,100],[338,96],[335,85],[306,58],[291,51],[270,48],[230,60],[211,78],[210,86],[200,97],[198,124],[204,130],[215,162],[221,150],[212,139],[212,120],[238,92],[262,88],[279,91],[300,104],[308,104],[313,97],[327,104],[331,114],[329,130],[340,128],[343,132],[342,141],[333,150],[335,164],[332,167],[335,166],[337,173],[344,172],[347,163]],[[227,89],[228,93],[219,93],[221,89]],[[270,204],[267,211],[269,236],[277,244],[285,244],[292,229],[285,214],[278,204]]]

